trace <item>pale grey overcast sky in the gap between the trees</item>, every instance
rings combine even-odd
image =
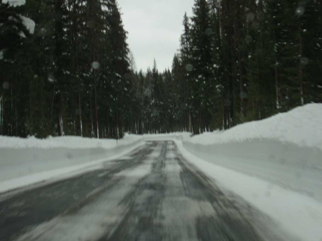
[[[180,46],[183,16],[192,16],[194,0],[117,0],[121,8],[128,45],[137,69],[170,68]]]

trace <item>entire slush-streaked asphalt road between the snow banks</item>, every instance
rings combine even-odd
[[[170,141],[147,142],[96,171],[0,195],[1,241],[283,240],[276,230]]]

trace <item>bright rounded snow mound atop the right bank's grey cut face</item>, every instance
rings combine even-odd
[[[226,131],[195,136],[188,140],[203,145],[243,142],[251,139],[274,139],[300,147],[322,149],[322,104],[314,103],[279,113],[261,121],[251,121]]]

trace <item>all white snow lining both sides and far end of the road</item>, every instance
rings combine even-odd
[[[296,239],[322,241],[321,120],[322,104],[308,104],[194,137],[127,135],[116,144],[79,137],[0,136],[0,192],[97,168],[103,160],[142,145],[142,139],[173,140],[219,186],[269,215]]]

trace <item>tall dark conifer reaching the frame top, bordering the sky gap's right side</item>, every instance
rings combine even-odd
[[[199,129],[209,129],[209,112],[208,99],[210,98],[213,86],[213,30],[210,18],[210,9],[207,1],[196,0],[193,8],[194,16],[191,18],[191,56],[192,79],[191,85],[191,101],[198,120],[199,128],[195,128],[194,132],[198,133]]]

